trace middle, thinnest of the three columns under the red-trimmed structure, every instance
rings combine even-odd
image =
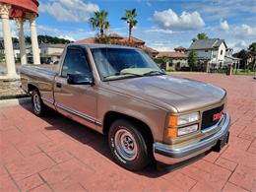
[[[22,65],[28,64],[27,54],[26,54],[26,44],[24,38],[24,19],[16,19],[18,30],[19,30],[19,42],[20,42],[20,56]]]

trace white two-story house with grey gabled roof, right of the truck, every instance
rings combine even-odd
[[[226,49],[224,39],[209,38],[193,41],[188,51],[195,50],[199,62],[207,62],[211,68],[220,68],[224,66]]]

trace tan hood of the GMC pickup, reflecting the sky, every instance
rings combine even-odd
[[[223,89],[211,84],[168,75],[124,79],[109,84],[119,92],[157,105],[164,103],[176,108],[177,112],[216,104],[225,96]]]

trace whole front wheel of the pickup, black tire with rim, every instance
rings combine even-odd
[[[126,169],[140,170],[152,160],[152,144],[131,121],[119,119],[111,124],[108,145],[114,160]]]

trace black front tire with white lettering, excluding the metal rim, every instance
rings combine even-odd
[[[135,160],[125,160],[118,154],[118,151],[115,148],[114,137],[115,133],[119,129],[127,130],[134,137],[138,148],[138,154]],[[118,164],[129,170],[140,170],[144,168],[146,165],[148,165],[148,163],[150,162],[150,156],[145,138],[136,129],[134,123],[131,123],[127,120],[120,119],[112,123],[108,133],[108,145],[112,153],[112,156],[114,157],[114,160]]]

